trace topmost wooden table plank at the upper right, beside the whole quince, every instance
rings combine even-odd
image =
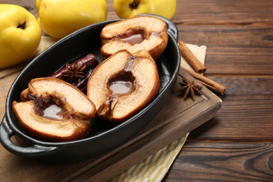
[[[179,0],[172,19],[185,25],[273,23],[270,0]]]

